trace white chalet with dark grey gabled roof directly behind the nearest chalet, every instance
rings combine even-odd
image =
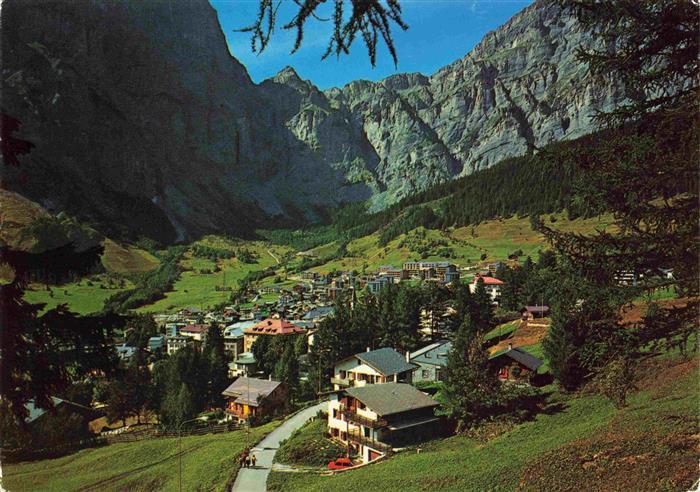
[[[385,347],[360,352],[336,363],[331,383],[335,390],[390,382],[411,382],[416,369],[396,350]]]

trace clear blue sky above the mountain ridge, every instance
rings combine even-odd
[[[393,61],[382,45],[377,66],[372,68],[367,50],[360,40],[353,44],[350,55],[338,60],[321,60],[332,25],[311,20],[299,51],[290,54],[295,33],[281,29],[283,21],[292,18],[296,5],[282,0],[278,27],[267,49],[260,55],[250,50],[250,34],[234,32],[255,19],[257,0],[210,0],[217,10],[219,22],[229,50],[243,63],[251,78],[260,82],[287,65],[293,66],[303,79],[321,89],[339,87],[357,79],[380,80],[394,73],[421,72],[426,75],[466,55],[489,31],[505,23],[530,4],[530,0],[403,0],[403,19],[408,31],[394,28],[399,64]],[[321,12],[328,12],[323,6]]]

